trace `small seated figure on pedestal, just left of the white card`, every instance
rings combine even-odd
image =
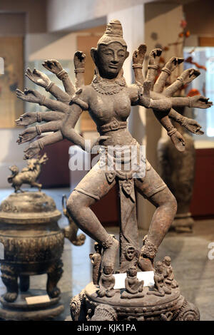
[[[98,289],[98,296],[99,297],[113,297],[118,290],[113,289],[115,285],[115,278],[113,277],[113,265],[106,264],[103,267],[103,272],[101,274],[101,278],[99,280],[99,289]]]

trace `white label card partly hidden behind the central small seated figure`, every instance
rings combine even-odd
[[[113,274],[115,277],[115,285],[114,289],[125,289],[125,274]],[[137,278],[141,281],[144,280],[143,287],[146,286],[154,286],[154,272],[153,271],[145,271],[145,272],[138,272]]]

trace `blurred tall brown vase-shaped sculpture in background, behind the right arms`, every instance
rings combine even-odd
[[[184,108],[178,109],[180,117]],[[171,226],[176,232],[192,232],[194,220],[190,214],[190,202],[193,195],[195,177],[195,147],[193,137],[190,136],[182,125],[173,122],[185,139],[185,151],[180,153],[168,138],[158,141],[158,168],[161,177],[175,195],[178,203],[177,214]],[[200,134],[203,131],[200,130]]]

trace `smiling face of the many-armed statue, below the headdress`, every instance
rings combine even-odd
[[[100,44],[97,50],[96,66],[103,78],[116,78],[128,56],[126,46],[112,42],[108,46]]]

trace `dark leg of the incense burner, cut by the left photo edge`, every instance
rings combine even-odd
[[[13,266],[8,264],[1,264],[1,279],[6,286],[6,293],[4,300],[13,302],[18,296],[18,275]]]

